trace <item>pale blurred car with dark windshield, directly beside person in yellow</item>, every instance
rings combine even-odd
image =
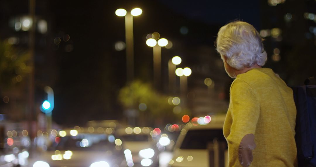
[[[224,115],[212,116],[207,125],[187,123],[173,148],[172,167],[227,166]]]

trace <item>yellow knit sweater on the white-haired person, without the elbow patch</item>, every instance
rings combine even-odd
[[[296,108],[292,89],[269,68],[239,74],[230,87],[230,104],[223,133],[229,166],[241,166],[238,148],[246,134],[254,134],[250,166],[297,166]]]

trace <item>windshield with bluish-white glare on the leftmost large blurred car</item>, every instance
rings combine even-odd
[[[109,142],[105,134],[79,134],[61,137],[60,142],[52,145],[51,150],[105,151],[112,147],[114,144]]]

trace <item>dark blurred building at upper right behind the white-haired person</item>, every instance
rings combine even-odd
[[[260,35],[265,39],[267,66],[289,85],[315,76],[316,1],[260,1]]]

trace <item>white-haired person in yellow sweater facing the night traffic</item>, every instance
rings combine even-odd
[[[223,133],[229,166],[297,166],[292,90],[269,68],[262,38],[246,22],[220,28],[216,40],[227,74],[236,78]]]

